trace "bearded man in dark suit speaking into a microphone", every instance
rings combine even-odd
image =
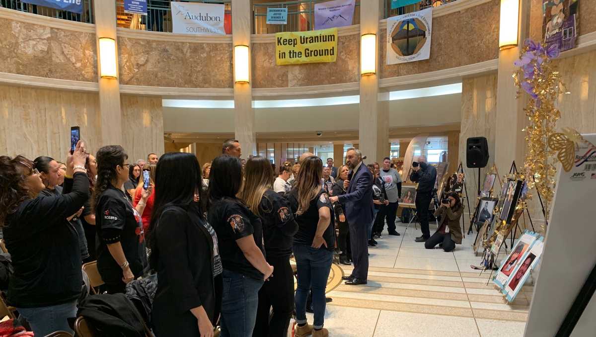
[[[368,237],[367,227],[373,222],[373,174],[362,163],[360,150],[347,150],[347,166],[350,173],[344,180],[346,194],[331,197],[331,202],[344,205],[350,230],[350,247],[354,269],[350,276],[344,276],[346,285],[365,285],[368,279]]]

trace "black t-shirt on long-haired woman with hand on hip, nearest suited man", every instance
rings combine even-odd
[[[298,190],[294,188],[288,196],[290,200],[290,207],[293,214],[298,211]],[[329,196],[321,189],[315,199],[311,200],[306,212],[301,215],[296,215],[296,222],[298,222],[298,231],[294,235],[294,245],[311,246],[312,240],[315,239],[316,225],[319,222],[319,208],[327,207],[331,212],[331,223],[323,233],[323,239],[327,242],[327,249],[333,251],[335,244],[334,220],[333,220],[333,205]],[[322,246],[324,247],[324,246]]]

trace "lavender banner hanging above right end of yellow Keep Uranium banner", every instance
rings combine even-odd
[[[315,29],[350,26],[356,0],[334,0],[315,4]]]

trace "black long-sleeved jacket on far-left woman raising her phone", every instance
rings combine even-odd
[[[89,198],[87,175],[77,172],[73,180],[65,179],[63,193],[26,200],[5,222],[4,240],[14,267],[8,303],[15,307],[63,304],[80,295],[79,236],[66,218]]]

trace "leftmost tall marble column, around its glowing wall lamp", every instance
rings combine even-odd
[[[95,39],[99,53],[99,38],[116,40],[116,0],[93,2],[95,16]],[[116,47],[116,50],[118,48]],[[116,69],[118,58],[116,57]],[[98,83],[100,88],[101,144],[122,144],[122,115],[120,114],[120,83],[116,79],[101,78],[100,60],[97,62]]]

